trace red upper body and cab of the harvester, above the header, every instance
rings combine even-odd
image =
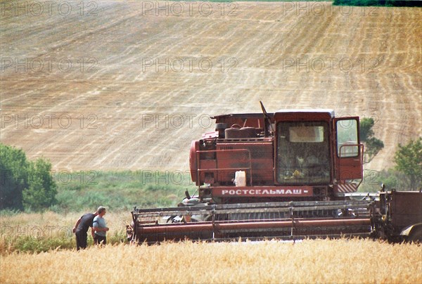
[[[362,181],[359,117],[279,110],[213,118],[215,135],[191,144],[191,178],[205,202],[335,200]]]

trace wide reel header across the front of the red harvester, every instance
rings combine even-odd
[[[139,243],[164,240],[300,240],[368,236],[369,200],[262,202],[137,209],[127,236]]]

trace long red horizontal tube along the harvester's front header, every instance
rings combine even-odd
[[[248,239],[253,235],[285,235],[295,239],[300,235],[356,235],[367,233],[371,219],[291,219],[286,221],[240,221],[198,222],[189,224],[167,224],[139,226],[136,235],[139,241],[149,243],[163,240],[196,240],[238,238]],[[251,233],[252,231],[252,233]],[[255,232],[255,233],[254,233]]]

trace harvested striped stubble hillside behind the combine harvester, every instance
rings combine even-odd
[[[371,169],[422,135],[421,8],[47,3],[1,3],[0,138],[56,170],[188,169],[210,116],[259,101],[373,117]]]

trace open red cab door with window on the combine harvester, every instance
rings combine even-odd
[[[335,179],[362,179],[364,146],[359,141],[359,117],[334,119]]]

